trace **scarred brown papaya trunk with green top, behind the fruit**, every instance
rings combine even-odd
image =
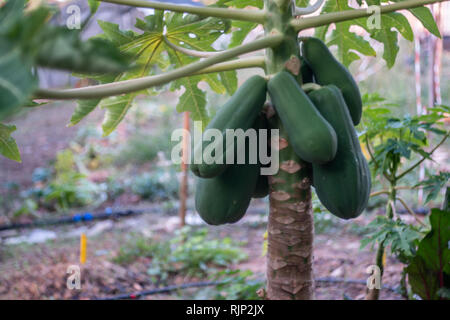
[[[297,33],[289,25],[291,1],[265,0],[270,12],[266,34],[282,33],[286,39],[280,46],[266,52],[267,74],[285,68],[294,75],[299,72]],[[271,129],[279,129],[280,170],[269,177],[270,214],[267,250],[267,295],[271,300],[314,299],[313,234],[311,209],[311,171],[289,145],[288,137],[275,112],[268,112]]]

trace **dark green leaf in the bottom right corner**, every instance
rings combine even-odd
[[[439,299],[441,289],[450,288],[450,211],[432,209],[430,224],[430,232],[406,267],[412,291],[426,300]]]

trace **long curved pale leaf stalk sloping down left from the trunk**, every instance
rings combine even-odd
[[[96,86],[89,86],[84,88],[66,89],[66,90],[48,90],[39,89],[36,91],[35,99],[95,99],[110,96],[117,96],[124,93],[136,92],[154,86],[160,86],[171,82],[173,80],[193,75],[201,70],[216,65],[220,62],[235,58],[239,55],[265,49],[268,47],[277,46],[284,39],[283,35],[272,35],[251,43],[244,44],[226,51],[221,52],[213,57],[205,60],[200,60],[176,70],[159,74],[155,76],[148,76],[138,79],[118,81],[114,83],[101,84]],[[238,61],[233,61],[237,63]],[[230,62],[232,63],[232,62]]]

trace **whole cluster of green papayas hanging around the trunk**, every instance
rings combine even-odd
[[[317,38],[301,39],[303,83],[318,88],[306,93],[295,77],[281,71],[269,79],[248,79],[219,110],[207,129],[223,135],[222,163],[192,164],[196,181],[195,206],[209,224],[240,220],[252,197],[269,193],[267,176],[260,175],[260,163],[226,164],[227,129],[267,128],[262,115],[267,92],[287,132],[289,144],[304,161],[311,163],[313,186],[321,203],[334,215],[350,219],[364,210],[369,198],[370,171],[355,131],[360,122],[362,101],[350,72]],[[205,142],[206,141],[206,142]],[[205,150],[213,142],[203,139]],[[199,151],[200,150],[200,151]]]

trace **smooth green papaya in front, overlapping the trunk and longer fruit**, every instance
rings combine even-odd
[[[333,160],[336,133],[295,78],[282,71],[269,80],[267,88],[295,153],[311,163]]]

